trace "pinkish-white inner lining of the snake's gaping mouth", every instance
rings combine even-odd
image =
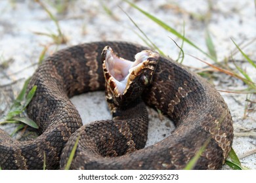
[[[137,67],[140,67],[142,62],[148,59],[148,56],[149,52],[142,51],[135,55],[135,61],[129,61],[127,59],[118,58],[111,51],[106,53],[106,69],[108,69],[110,75],[113,76],[119,93],[125,91],[130,73]]]

